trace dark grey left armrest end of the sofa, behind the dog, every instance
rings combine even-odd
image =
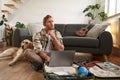
[[[21,41],[24,39],[32,40],[32,35],[29,34],[28,29],[18,28],[13,33],[12,46],[20,47]]]

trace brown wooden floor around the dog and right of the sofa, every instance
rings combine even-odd
[[[116,50],[116,49],[115,49]],[[120,51],[120,49],[117,49]],[[110,56],[110,61],[120,65],[120,56],[114,56],[114,51]],[[9,60],[0,60],[0,80],[44,80],[42,71],[35,72],[28,62],[20,61],[13,65],[8,66]]]

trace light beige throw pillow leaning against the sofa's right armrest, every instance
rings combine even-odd
[[[103,32],[107,27],[108,27],[108,23],[104,23],[104,24],[96,24],[95,26],[93,26],[93,28],[91,28],[86,36],[87,37],[93,37],[93,38],[97,38],[98,35]]]

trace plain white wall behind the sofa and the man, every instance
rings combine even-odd
[[[17,21],[42,22],[43,17],[50,14],[55,23],[88,23],[88,18],[82,11],[87,5],[97,1],[99,0],[25,0],[9,21],[11,24]]]

